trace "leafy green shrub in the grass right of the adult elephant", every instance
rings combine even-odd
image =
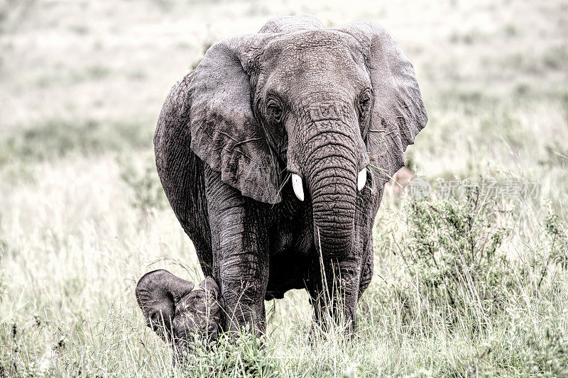
[[[406,315],[484,328],[503,310],[513,286],[510,262],[500,251],[510,234],[510,212],[481,196],[476,185],[461,200],[407,198],[403,209],[406,231],[398,255],[408,284],[396,290]]]

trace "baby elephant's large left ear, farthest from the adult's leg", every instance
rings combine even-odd
[[[144,274],[136,285],[136,301],[146,318],[146,325],[164,340],[172,340],[175,303],[194,287],[193,282],[164,269]]]

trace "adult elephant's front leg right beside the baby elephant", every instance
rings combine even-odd
[[[265,330],[264,296],[268,285],[267,209],[205,172],[213,270],[221,288],[224,330],[249,326]]]

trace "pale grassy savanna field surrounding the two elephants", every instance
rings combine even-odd
[[[410,166],[500,191],[384,201],[353,340],[310,343],[290,291],[265,348],[175,367],[133,295],[151,269],[201,279],[153,166],[160,106],[214,41],[300,13],[390,29],[430,116]],[[567,35],[562,0],[0,1],[0,377],[567,376]]]

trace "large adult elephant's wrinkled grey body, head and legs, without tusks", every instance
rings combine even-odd
[[[165,194],[219,284],[223,330],[262,332],[263,301],[300,288],[315,321],[332,310],[353,328],[383,186],[426,122],[413,65],[376,24],[279,17],[209,48],[170,91],[154,145]]]

